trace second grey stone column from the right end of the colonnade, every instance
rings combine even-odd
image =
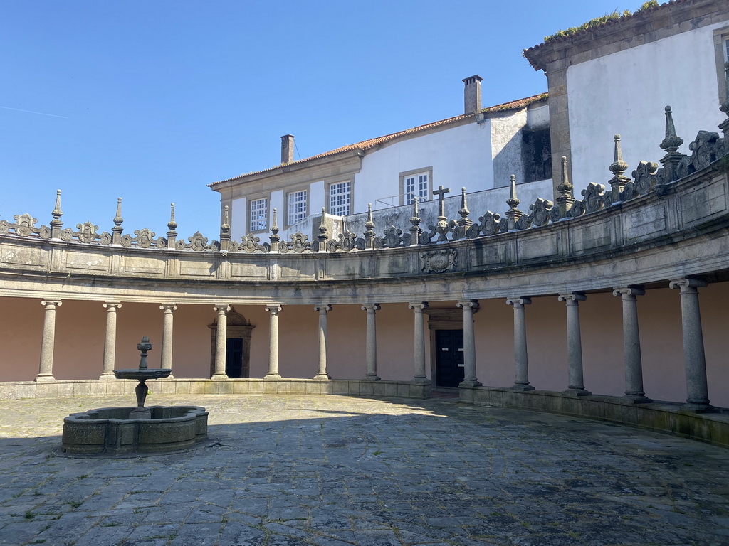
[[[625,366],[625,400],[645,404],[652,400],[643,390],[643,361],[640,354],[638,306],[636,296],[644,296],[645,290],[636,286],[615,288],[613,296],[623,300],[623,363]]]

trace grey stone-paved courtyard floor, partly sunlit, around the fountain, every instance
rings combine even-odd
[[[63,416],[120,397],[2,400],[9,545],[729,545],[729,450],[450,400],[160,396],[217,442],[58,455]]]

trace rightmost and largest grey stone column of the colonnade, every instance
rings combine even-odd
[[[701,312],[698,308],[698,288],[708,286],[699,279],[672,280],[671,288],[681,290],[681,323],[684,341],[684,365],[686,368],[686,404],[690,411],[713,411],[709,404],[709,387],[706,384],[706,357],[703,353]]]

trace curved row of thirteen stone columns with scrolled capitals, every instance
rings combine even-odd
[[[703,280],[684,278],[671,280],[668,286],[679,290],[681,299],[681,317],[686,373],[687,409],[691,411],[710,411],[708,385],[706,381],[706,359],[703,350],[703,333],[701,330],[701,314],[698,304],[698,288],[706,287]],[[615,288],[613,296],[620,296],[623,308],[623,358],[625,371],[625,400],[631,403],[650,403],[643,389],[643,371],[638,324],[637,298],[643,296],[645,290],[638,286]],[[574,396],[587,396],[582,378],[582,336],[580,333],[580,301],[586,301],[587,295],[582,292],[560,293],[558,300],[566,304],[566,347],[567,347],[567,379],[565,392]],[[43,336],[41,344],[39,373],[36,381],[54,381],[53,349],[55,344],[55,315],[62,302],[57,299],[44,299]],[[533,390],[529,384],[529,363],[526,342],[526,306],[531,298],[526,296],[507,298],[506,304],[512,306],[514,312],[514,368],[515,379],[511,389],[518,391]],[[460,387],[480,387],[476,373],[476,348],[474,333],[474,312],[478,309],[477,300],[458,301],[456,305],[463,311],[464,331],[464,380]],[[117,311],[122,307],[120,302],[106,301],[106,336],[104,339],[104,361],[99,379],[114,379],[114,351],[116,347]],[[424,335],[424,311],[429,308],[428,302],[411,302],[408,308],[413,310],[414,347],[413,347],[413,381],[428,384],[426,376],[426,349]],[[175,304],[162,304],[163,336],[162,357],[163,368],[172,365],[173,316],[177,309]],[[214,372],[211,379],[226,380],[225,352],[227,341],[227,314],[231,310],[228,304],[215,304],[217,312],[217,333],[214,348]],[[269,346],[268,372],[263,379],[281,379],[278,373],[278,315],[284,307],[281,304],[269,304],[265,310],[269,313]],[[327,318],[332,312],[331,304],[319,304],[313,307],[319,314],[318,328],[318,365],[313,379],[326,381],[331,379],[327,371],[328,331]],[[377,371],[377,332],[376,314],[381,310],[380,304],[362,305],[366,316],[365,374],[364,379],[378,381]]]

